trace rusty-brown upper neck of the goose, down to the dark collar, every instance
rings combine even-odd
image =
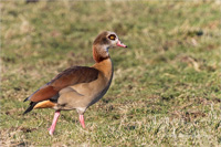
[[[105,45],[93,45],[93,57],[96,63],[110,59],[108,48]]]

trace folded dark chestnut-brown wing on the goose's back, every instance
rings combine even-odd
[[[67,86],[78,83],[90,83],[98,77],[98,70],[87,66],[73,66],[57,74],[51,82],[35,91],[27,99],[31,102],[41,102],[50,99]]]

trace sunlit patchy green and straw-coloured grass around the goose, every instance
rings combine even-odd
[[[220,3],[1,2],[1,146],[220,146]],[[22,101],[72,65],[93,65],[92,42],[115,31],[108,93],[85,113],[23,116]]]

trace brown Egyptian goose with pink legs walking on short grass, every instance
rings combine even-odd
[[[114,32],[98,34],[93,43],[95,64],[91,67],[72,66],[57,74],[24,99],[31,101],[24,114],[35,108],[54,108],[53,123],[49,128],[50,135],[53,135],[60,112],[76,109],[81,125],[85,128],[85,111],[105,95],[112,83],[113,64],[108,49],[115,46],[127,48]]]

